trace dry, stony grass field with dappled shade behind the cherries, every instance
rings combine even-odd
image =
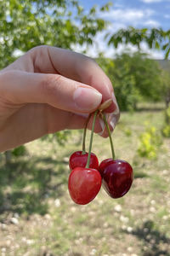
[[[137,154],[144,122],[161,129],[161,109],[122,113],[113,140],[116,157],[134,169],[133,187],[118,200],[103,189],[87,206],[71,201],[69,155],[81,149],[72,131],[65,147],[37,140],[26,156],[0,162],[0,254],[2,256],[170,255],[170,140],[156,160]],[[89,133],[88,133],[89,140]],[[109,139],[94,136],[99,160],[111,157]]]

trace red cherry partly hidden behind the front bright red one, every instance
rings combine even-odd
[[[71,154],[69,160],[70,169],[73,170],[76,167],[86,167],[88,160],[88,153],[82,154],[82,151],[76,151]],[[99,160],[94,153],[90,154],[90,163],[89,168],[98,169],[99,168]]]

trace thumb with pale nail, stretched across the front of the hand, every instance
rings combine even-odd
[[[102,95],[87,84],[59,74],[8,71],[0,74],[0,95],[14,104],[48,103],[69,112],[90,113]]]

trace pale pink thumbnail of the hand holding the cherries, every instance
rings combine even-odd
[[[76,108],[82,111],[92,111],[98,108],[102,100],[102,95],[98,90],[78,87],[74,92],[73,100]]]

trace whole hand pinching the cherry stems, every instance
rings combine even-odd
[[[106,112],[113,130],[119,110],[97,63],[71,50],[33,48],[0,72],[0,152],[55,131],[82,129],[88,113],[110,98]],[[107,137],[100,119],[94,131]]]

